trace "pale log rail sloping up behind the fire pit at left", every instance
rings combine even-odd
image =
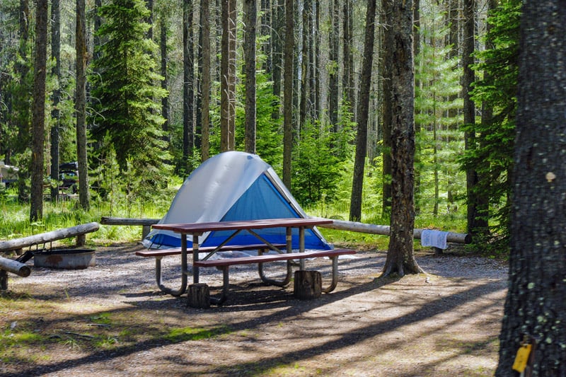
[[[34,236],[0,241],[0,252],[21,250],[32,245],[40,245],[42,243],[71,237],[76,237],[76,245],[82,246],[85,243],[85,234],[98,231],[98,228],[100,228],[100,224],[93,222],[71,226],[70,228],[57,229],[57,231],[35,234]]]

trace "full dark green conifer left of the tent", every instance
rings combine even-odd
[[[158,87],[158,46],[146,37],[149,11],[143,0],[115,0],[101,6],[99,14],[104,22],[98,37],[106,42],[98,47],[96,75],[90,78],[95,101],[91,134],[98,141],[109,135],[120,170],[134,161],[138,174],[159,180],[168,159],[158,112],[166,91]]]

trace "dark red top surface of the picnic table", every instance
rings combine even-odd
[[[333,220],[322,219],[320,217],[284,218],[284,219],[260,219],[243,221],[219,221],[211,223],[179,223],[179,224],[155,224],[154,229],[163,229],[175,233],[204,233],[208,231],[236,231],[238,229],[261,229],[301,226],[311,227],[320,224],[332,224]]]

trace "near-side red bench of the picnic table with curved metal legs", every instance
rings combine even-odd
[[[332,282],[329,286],[322,288],[324,293],[329,293],[336,288],[337,276],[338,276],[338,257],[340,255],[352,255],[355,254],[355,250],[348,249],[334,249],[334,250],[316,250],[316,251],[305,251],[303,253],[284,253],[284,254],[262,254],[261,252],[257,256],[250,257],[234,257],[234,258],[220,258],[215,260],[196,260],[192,262],[195,267],[216,267],[221,269],[223,274],[223,284],[222,291],[219,298],[211,298],[211,301],[217,305],[221,305],[226,301],[229,292],[229,268],[233,265],[249,265],[258,264],[258,271],[263,282],[268,284],[273,284],[276,286],[285,286],[290,282],[290,275],[282,281],[278,282],[272,279],[267,279],[263,274],[263,264],[267,262],[276,262],[284,260],[287,262],[299,260],[301,271],[304,270],[304,260],[317,258],[317,257],[329,257],[332,260]]]

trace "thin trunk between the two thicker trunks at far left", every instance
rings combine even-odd
[[[51,117],[53,125],[51,127],[51,179],[59,182],[59,102],[61,102],[61,6],[59,0],[51,2],[51,57],[53,67],[52,76],[57,80],[57,86],[53,90],[51,100],[53,102],[53,110]],[[57,187],[51,188],[51,201],[56,202],[59,198],[59,184]]]

